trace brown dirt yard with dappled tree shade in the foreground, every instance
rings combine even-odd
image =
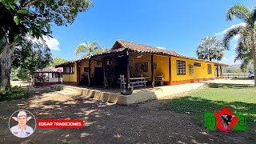
[[[0,143],[252,143],[254,130],[246,136],[210,132],[194,125],[190,116],[158,109],[160,102],[118,106],[78,95],[47,90],[33,98],[0,102]],[[16,110],[29,110],[37,119],[83,119],[83,129],[37,129],[29,138],[16,138],[8,119]],[[245,134],[243,134],[245,135]]]

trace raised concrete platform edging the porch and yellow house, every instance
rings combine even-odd
[[[57,90],[61,90],[59,94],[81,94],[86,98],[96,98],[106,102],[114,102],[120,105],[130,105],[138,102],[145,102],[152,99],[162,99],[170,97],[174,94],[181,94],[186,91],[198,89],[204,86],[205,83],[186,83],[176,86],[158,86],[155,88],[146,88],[134,90],[131,95],[122,95],[121,91],[116,93],[113,90],[106,91],[101,89],[82,88],[76,86],[58,86]],[[116,91],[116,90],[115,90]]]

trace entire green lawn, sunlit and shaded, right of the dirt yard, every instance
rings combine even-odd
[[[204,125],[204,114],[222,110],[227,106],[233,112],[245,114],[249,124],[256,119],[256,88],[213,84],[181,98],[175,98],[162,106],[182,114],[191,114],[194,122]]]

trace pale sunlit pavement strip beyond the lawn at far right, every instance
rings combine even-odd
[[[204,83],[218,83],[218,84],[234,84],[234,85],[254,85],[254,80],[236,80],[231,78],[214,79],[205,81]]]

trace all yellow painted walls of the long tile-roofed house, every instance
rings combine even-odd
[[[137,58],[138,54],[130,54],[130,75],[132,77],[151,77],[151,54],[139,54],[143,55],[142,58]],[[169,65],[169,58],[166,56],[154,55],[154,62],[157,62],[157,69],[154,70],[154,76],[162,74],[165,82],[170,81],[169,66],[171,67],[171,81],[182,81],[196,78],[214,78],[214,63],[201,62],[196,60],[190,60],[186,58],[171,57],[171,65]],[[177,60],[186,61],[186,75],[177,75]],[[148,72],[136,72],[136,62],[148,62]],[[190,74],[190,64],[194,65],[194,62],[201,63],[201,66],[194,66],[194,74]],[[212,66],[212,74],[208,74],[207,64]],[[88,72],[84,72],[84,67],[88,67],[89,62],[82,62],[80,66],[80,78],[82,74],[88,76]],[[102,62],[91,61],[91,74],[94,78],[94,67],[102,67]],[[77,82],[77,62],[74,63],[74,74],[63,74],[64,82]],[[151,78],[147,79],[151,80]]]

